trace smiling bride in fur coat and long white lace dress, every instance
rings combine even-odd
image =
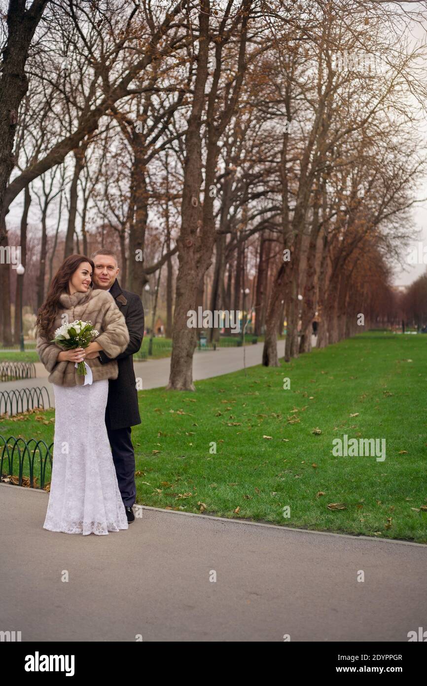
[[[106,535],[128,528],[105,424],[108,379],[117,379],[117,362],[101,364],[98,353],[117,357],[129,333],[110,293],[93,290],[93,269],[84,255],[67,257],[37,318],[36,351],[55,395],[51,490],[43,528],[66,534]],[[75,320],[92,322],[99,336],[87,348],[64,351],[51,340],[56,329]],[[77,362],[90,367],[86,376],[77,375]]]

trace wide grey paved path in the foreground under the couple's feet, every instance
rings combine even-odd
[[[427,546],[156,508],[108,536],[60,534],[42,528],[47,499],[0,485],[0,630],[23,641],[406,642],[426,628]]]

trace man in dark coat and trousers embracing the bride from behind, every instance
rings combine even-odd
[[[92,277],[94,287],[110,291],[126,320],[130,336],[129,345],[124,353],[114,358],[119,365],[119,376],[108,381],[106,427],[127,521],[131,522],[135,519],[132,506],[136,498],[136,485],[130,427],[141,424],[132,355],[138,352],[143,342],[144,309],[141,298],[135,293],[121,289],[117,281],[117,257],[112,250],[97,250],[90,258],[95,264]],[[99,351],[98,355],[102,364],[110,360],[103,351]]]

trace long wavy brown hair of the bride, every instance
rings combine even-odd
[[[75,270],[82,262],[88,262],[92,267],[93,273],[95,265],[89,257],[86,257],[86,255],[70,255],[64,260],[55,276],[53,276],[46,300],[38,310],[37,315],[36,325],[38,333],[42,338],[51,340],[56,315],[58,314],[58,309],[60,309],[60,295],[64,292],[69,292],[71,276],[73,276]]]

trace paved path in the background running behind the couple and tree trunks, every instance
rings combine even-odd
[[[245,346],[246,366],[261,364],[263,359],[263,343]],[[284,340],[278,341],[278,355],[284,356]],[[161,388],[169,381],[170,357],[149,359],[147,362],[134,361],[135,376],[143,380],[143,388]],[[193,379],[209,379],[229,372],[243,369],[243,348],[217,348],[216,351],[196,351],[193,357]],[[45,386],[49,391],[51,405],[54,405],[53,388],[47,381],[49,372],[36,362],[36,379],[22,379],[21,381],[3,381],[0,391],[19,388],[34,388]]]

